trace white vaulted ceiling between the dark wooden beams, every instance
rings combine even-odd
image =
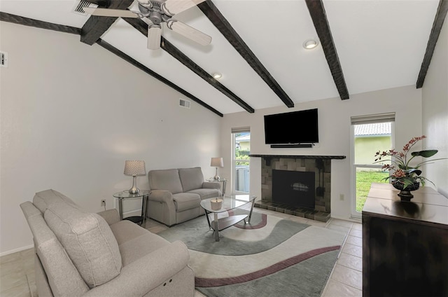
[[[438,0],[323,0],[350,95],[415,85]],[[293,100],[339,97],[304,0],[213,0],[241,39]],[[0,11],[59,25],[83,27],[89,16],[72,13],[74,0],[0,0]],[[135,5],[135,3],[134,3]],[[253,109],[284,106],[210,20],[193,7],[176,15],[212,36],[197,46],[166,27],[163,36]],[[118,19],[101,37],[221,113],[244,111],[165,50],[148,50],[146,36]]]

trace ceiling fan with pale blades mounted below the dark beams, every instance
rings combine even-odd
[[[186,11],[188,8],[196,6],[205,0],[137,0],[139,11],[128,11],[122,9],[109,8],[88,8],[83,10],[90,15],[120,18],[141,18],[148,24],[148,48],[157,50],[160,48],[162,36],[162,22],[167,24],[169,29],[177,32],[188,39],[207,46],[211,43],[211,36],[186,25],[179,20],[172,18],[174,15]]]

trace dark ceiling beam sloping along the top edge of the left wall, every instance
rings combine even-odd
[[[186,97],[192,99],[194,102],[204,106],[206,109],[209,109],[209,111],[213,111],[218,116],[223,116],[223,113],[221,113],[221,112],[217,111],[216,109],[214,109],[213,107],[209,106],[209,104],[206,104],[205,102],[198,99],[194,95],[191,95],[186,90],[183,90],[183,88],[180,88],[178,85],[175,85],[171,81],[168,81],[167,78],[164,78],[163,76],[160,76],[159,74],[155,73],[154,71],[152,71],[151,69],[146,67],[144,64],[141,64],[137,60],[134,60],[132,57],[126,55],[121,50],[118,50],[118,48],[111,46],[111,44],[107,43],[106,41],[104,41],[102,39],[98,39],[97,44],[99,44],[99,46],[102,46],[106,50],[109,50],[111,53],[117,55],[118,57],[122,58],[126,62],[129,62],[130,64],[134,65],[138,69],[146,72],[146,74],[149,74],[149,75],[153,76],[153,78],[158,79],[158,81],[165,83],[165,85],[168,85],[169,87],[173,88],[174,90],[176,90],[176,91],[180,92],[181,94],[185,95]]]

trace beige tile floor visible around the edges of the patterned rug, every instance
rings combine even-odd
[[[362,225],[360,223],[339,219],[330,219],[327,223],[323,223],[266,209],[257,208],[254,211],[346,232],[346,240],[321,297],[363,295]],[[146,221],[146,229],[153,233],[159,233],[166,228],[167,226],[156,221]],[[0,297],[13,296],[37,296],[33,249],[0,257]],[[199,291],[195,291],[195,297],[203,297],[203,295]]]

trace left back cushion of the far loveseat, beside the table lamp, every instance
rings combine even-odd
[[[151,190],[166,190],[173,194],[183,191],[179,170],[151,170],[148,172],[148,179]]]

